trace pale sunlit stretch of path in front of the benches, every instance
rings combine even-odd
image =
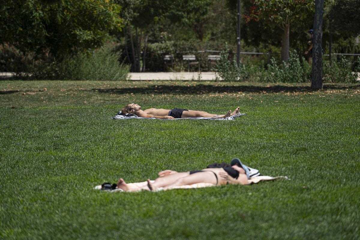
[[[215,80],[215,72],[143,72],[129,73],[130,80]]]

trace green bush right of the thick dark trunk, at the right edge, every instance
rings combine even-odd
[[[351,63],[341,56],[340,62],[333,61],[323,64],[323,80],[327,82],[355,82],[357,79],[357,68],[360,68],[360,58],[356,61],[355,73],[352,72]]]

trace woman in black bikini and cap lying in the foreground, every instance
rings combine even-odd
[[[156,191],[159,187],[163,187],[164,190],[166,190],[175,186],[191,185],[201,182],[214,185],[247,184],[249,178],[249,169],[242,164],[238,158],[234,158],[231,160],[230,166],[225,163],[214,163],[209,165],[208,168],[197,171],[161,171],[159,172],[159,177],[156,178],[154,182],[150,182],[148,179],[144,186],[129,186],[120,178],[117,182],[117,188],[121,188],[124,191]]]

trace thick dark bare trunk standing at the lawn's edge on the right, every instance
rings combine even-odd
[[[311,89],[323,88],[323,68],[322,68],[322,59],[321,59],[322,58],[321,42],[323,40],[323,12],[324,12],[324,0],[315,0]]]

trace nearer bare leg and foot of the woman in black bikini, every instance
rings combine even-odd
[[[164,189],[168,189],[170,187],[197,184],[199,182],[207,182],[211,184],[217,183],[214,173],[209,171],[209,172],[197,172],[185,177],[180,177],[175,182],[167,184],[163,187]],[[149,179],[148,179],[148,187],[150,190],[157,189],[156,185],[154,186]]]

